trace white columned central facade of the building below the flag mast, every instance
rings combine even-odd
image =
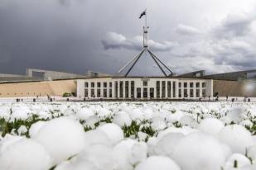
[[[182,99],[213,97],[213,80],[162,77],[78,79],[77,97],[106,99]]]

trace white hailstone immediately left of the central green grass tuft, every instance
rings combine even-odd
[[[114,123],[100,125],[97,130],[103,131],[109,137],[111,144],[117,144],[123,139],[123,130]]]

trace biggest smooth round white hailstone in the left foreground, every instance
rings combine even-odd
[[[35,139],[51,154],[54,163],[60,163],[84,148],[84,135],[84,128],[80,123],[60,117],[46,122]]]

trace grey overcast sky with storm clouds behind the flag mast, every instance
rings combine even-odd
[[[175,73],[256,68],[255,0],[0,0],[0,73],[115,73],[142,48]],[[132,74],[160,74],[147,55]]]

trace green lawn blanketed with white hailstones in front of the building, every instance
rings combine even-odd
[[[255,170],[254,102],[1,102],[1,170]]]

